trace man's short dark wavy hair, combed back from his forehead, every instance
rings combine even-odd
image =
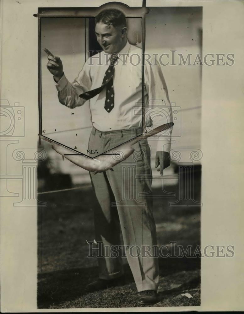
[[[102,22],[104,24],[113,25],[113,27],[127,27],[125,15],[117,9],[109,9],[101,11],[95,17],[95,24]]]

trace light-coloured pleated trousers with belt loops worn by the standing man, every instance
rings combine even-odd
[[[134,130],[137,135],[140,130]],[[92,129],[89,150],[103,153],[132,138],[131,130],[100,132]],[[110,248],[123,245],[138,291],[157,290],[158,257],[155,256],[156,227],[152,212],[150,147],[141,140],[126,160],[107,170],[90,172],[92,186],[100,207],[94,208],[95,240],[103,242],[97,257],[100,279],[114,279],[123,274],[122,257],[111,256]]]

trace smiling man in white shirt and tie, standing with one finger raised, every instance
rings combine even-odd
[[[95,34],[103,51],[85,62],[73,83],[65,77],[60,58],[45,51],[49,60],[47,68],[54,76],[60,103],[74,108],[89,100],[93,124],[89,149],[96,149],[101,154],[127,142],[132,134],[138,136],[142,133],[142,116],[138,114],[141,111],[133,114],[133,108],[142,102],[141,63],[133,59],[141,56],[141,49],[127,41],[126,18],[116,9],[104,10],[96,16]],[[148,63],[144,67],[145,104],[149,100],[159,100],[161,105],[164,101],[170,109],[166,111],[168,113],[162,110],[158,115],[155,112],[159,109],[155,107],[156,111],[149,117],[155,128],[171,122],[171,108],[160,66],[153,64]],[[157,145],[155,167],[159,167],[161,175],[170,165],[170,136],[171,131],[166,140],[158,141]],[[156,228],[152,198],[146,197],[151,191],[150,148],[147,141],[139,141],[133,148],[140,154],[131,155],[126,163],[114,166],[113,171],[90,172],[100,203],[100,208],[94,209],[95,239],[103,242],[104,254],[98,258],[99,279],[89,284],[86,290],[105,289],[122,277],[122,258],[105,254],[105,248],[120,244],[121,228],[127,260],[139,292],[138,302],[153,304],[157,302],[159,269],[153,251]],[[136,257],[130,250],[133,246],[141,249],[141,254]],[[142,256],[143,246],[148,252],[145,257]]]

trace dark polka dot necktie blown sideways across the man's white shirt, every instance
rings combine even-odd
[[[116,54],[112,54],[110,57],[110,66],[108,67],[107,71],[105,72],[102,85],[98,88],[89,90],[86,93],[79,95],[79,97],[89,100],[94,96],[98,95],[106,86],[106,99],[104,104],[104,109],[107,112],[110,112],[114,108],[114,89],[113,89],[113,75],[114,75],[114,65],[118,56]]]

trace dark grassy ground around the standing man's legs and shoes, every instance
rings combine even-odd
[[[194,198],[199,201],[200,182]],[[166,188],[175,192],[177,187]],[[161,195],[161,189],[154,189]],[[38,211],[38,308],[137,307],[137,290],[126,259],[124,282],[117,287],[85,293],[84,287],[97,278],[95,258],[87,258],[87,241],[94,239],[93,212],[98,206],[90,187],[43,194],[47,207]],[[155,198],[154,216],[158,244],[200,245],[200,208],[168,207],[176,198]],[[200,259],[160,258],[159,302],[154,306],[200,305]],[[192,298],[182,296],[190,293]]]

